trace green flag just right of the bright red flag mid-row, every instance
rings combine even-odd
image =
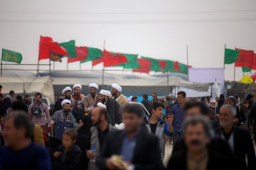
[[[114,55],[116,53],[113,53]],[[140,68],[140,63],[138,62],[138,55],[136,54],[127,54],[123,53],[123,55],[127,58],[126,63],[118,64],[116,66],[124,67],[124,69],[137,69]]]

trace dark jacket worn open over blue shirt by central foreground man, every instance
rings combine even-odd
[[[109,133],[109,136],[100,151],[100,156],[96,159],[96,164],[99,169],[107,169],[106,159],[111,157],[111,155],[120,155],[124,137],[124,131]],[[136,139],[132,164],[134,164],[135,170],[164,169],[156,136],[143,130],[140,131],[140,134],[138,134],[138,138]]]

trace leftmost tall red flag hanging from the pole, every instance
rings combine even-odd
[[[50,58],[50,45],[53,43],[51,37],[40,36],[38,60]]]

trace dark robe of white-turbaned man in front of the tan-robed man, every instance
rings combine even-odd
[[[108,98],[108,101],[106,102],[108,114],[110,115],[112,119],[112,125],[116,124],[116,117],[118,114],[120,114],[120,105],[115,99]]]

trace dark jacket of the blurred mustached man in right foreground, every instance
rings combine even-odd
[[[232,157],[228,157],[228,154],[218,152],[211,144],[208,146],[209,160],[207,164],[207,170],[216,169],[233,169]],[[180,148],[179,151],[172,153],[172,157],[168,162],[166,169],[186,170],[187,166],[187,149],[186,146]]]

